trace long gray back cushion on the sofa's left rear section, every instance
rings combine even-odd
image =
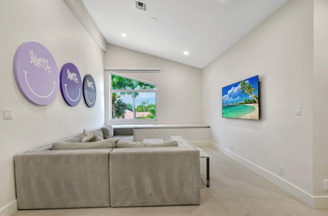
[[[115,148],[117,141],[118,138],[95,142],[54,142],[52,143],[51,150]]]

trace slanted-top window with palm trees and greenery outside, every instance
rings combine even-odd
[[[157,84],[110,73],[111,120],[157,120]]]

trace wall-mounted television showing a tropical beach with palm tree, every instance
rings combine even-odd
[[[222,88],[222,117],[259,120],[258,75]]]

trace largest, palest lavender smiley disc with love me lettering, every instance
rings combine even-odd
[[[17,86],[31,102],[47,105],[57,96],[59,73],[50,52],[38,42],[25,42],[16,50],[13,71]]]

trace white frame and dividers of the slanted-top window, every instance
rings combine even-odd
[[[144,83],[147,83],[147,84],[151,84],[151,85],[154,85],[156,87],[156,89],[112,89],[112,74],[113,75],[116,75],[116,76],[120,76],[120,77],[124,77],[124,78],[127,78],[127,79],[132,79],[132,80],[136,80],[138,82],[144,82]],[[126,75],[122,75],[122,74],[119,74],[119,73],[115,73],[115,72],[112,72],[110,71],[109,72],[109,121],[110,122],[119,122],[119,121],[158,121],[158,84],[157,83],[153,83],[153,82],[149,82],[149,81],[145,81],[145,80],[142,80],[142,79],[138,79],[138,78],[134,78],[134,77],[130,77],[130,76],[126,76]],[[132,107],[133,107],[133,119],[113,119],[112,118],[112,93],[121,93],[121,92],[126,92],[126,93],[133,93],[133,96],[132,96]],[[156,115],[155,115],[155,118],[153,119],[150,119],[150,118],[146,118],[146,119],[142,119],[142,118],[136,118],[136,104],[135,104],[135,94],[134,93],[142,93],[142,92],[145,92],[145,93],[155,93],[155,112],[156,112]]]

